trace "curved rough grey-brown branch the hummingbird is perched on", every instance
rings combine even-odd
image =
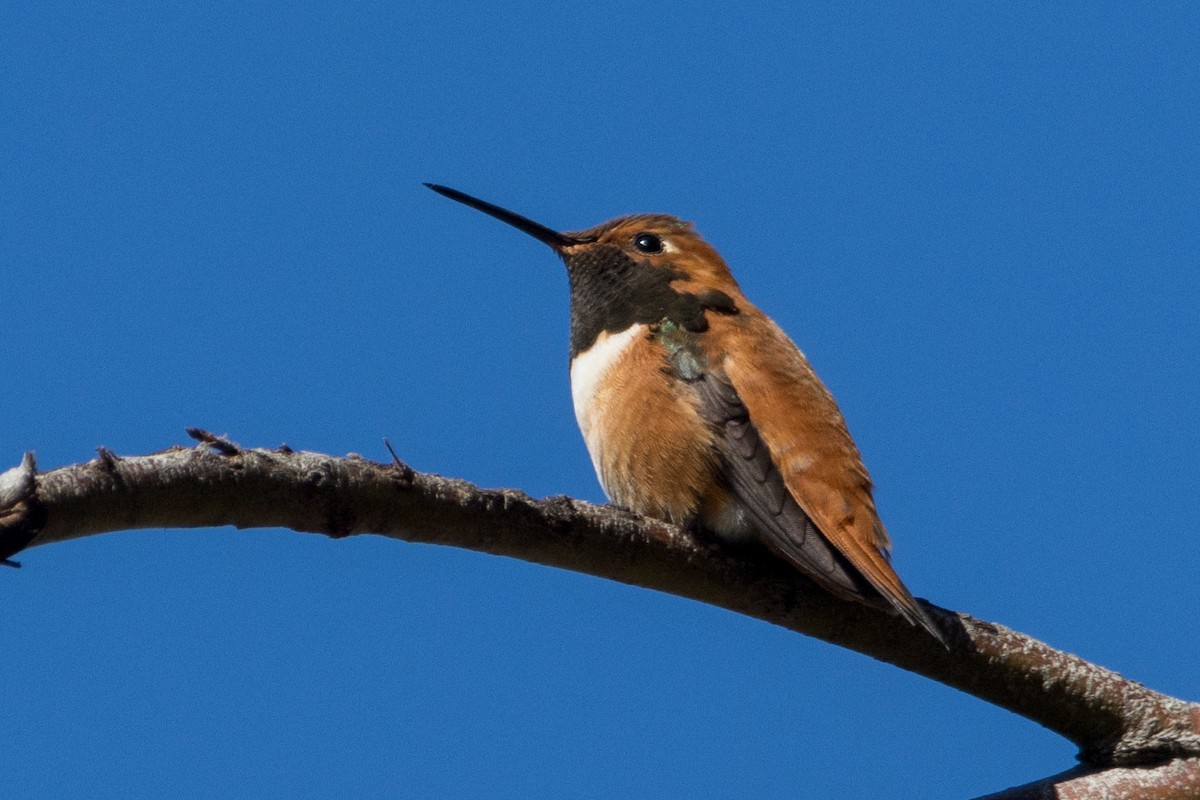
[[[1002,625],[925,603],[949,640],[943,649],[899,618],[816,589],[766,553],[733,551],[612,506],[480,489],[398,459],[246,450],[188,433],[202,444],[128,458],[101,449],[94,461],[47,473],[26,455],[0,474],[0,558],[116,530],[218,525],[378,534],[508,555],[690,597],[857,650],[1079,746],[1080,770],[992,799],[1114,796],[1098,787],[1133,780],[1141,781],[1138,796],[1198,794],[1200,705]]]

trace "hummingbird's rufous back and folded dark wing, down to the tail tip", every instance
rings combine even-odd
[[[714,320],[727,326],[722,338],[732,347],[709,353],[709,369],[696,381],[704,415],[722,429],[730,491],[812,578],[869,601],[865,581],[941,639],[888,561],[870,476],[833,396],[769,318],[756,308],[742,313],[760,319],[752,326]]]

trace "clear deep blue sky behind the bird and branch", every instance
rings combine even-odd
[[[1194,4],[18,4],[0,461],[185,426],[601,500],[558,228],[677,213],[838,396],[918,595],[1200,698]],[[23,798],[966,798],[1036,724],[474,553],[142,531],[0,573]]]

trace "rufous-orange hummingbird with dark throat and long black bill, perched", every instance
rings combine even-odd
[[[892,567],[870,475],[833,395],[691,223],[638,213],[559,233],[426,186],[566,265],[575,417],[613,503],[757,540],[838,597],[890,608],[946,644]]]

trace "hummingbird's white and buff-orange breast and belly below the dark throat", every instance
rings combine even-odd
[[[690,523],[716,475],[695,393],[667,371],[646,325],[601,333],[571,361],[575,419],[605,493],[647,516]]]

